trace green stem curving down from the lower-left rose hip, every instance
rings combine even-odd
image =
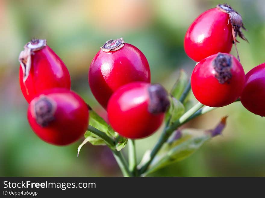
[[[120,170],[123,173],[123,176],[124,177],[133,176],[132,173],[129,171],[128,164],[127,164],[126,160],[124,159],[122,152],[116,150],[114,140],[112,140],[110,137],[108,137],[108,135],[105,134],[104,132],[102,132],[102,131],[98,130],[97,128],[92,127],[90,125],[88,127],[88,130],[90,132],[92,132],[93,134],[97,135],[98,137],[101,137],[105,141],[105,143],[110,147],[110,149],[112,150],[112,153],[113,153],[113,155],[114,155],[114,157],[115,157],[115,159],[116,159],[116,161],[120,167]]]

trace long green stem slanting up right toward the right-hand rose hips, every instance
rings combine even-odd
[[[140,171],[139,171],[140,174],[144,173],[147,170],[148,166],[151,164],[152,160],[154,159],[154,156],[161,149],[161,147],[167,141],[167,139],[170,137],[170,135],[173,133],[173,131],[176,130],[182,124],[186,123],[186,120],[188,120],[189,117],[191,117],[194,113],[196,113],[203,106],[204,106],[203,104],[198,102],[195,106],[193,106],[191,109],[189,109],[189,111],[184,113],[176,122],[174,122],[169,127],[164,128],[164,131],[163,131],[161,137],[159,138],[158,142],[156,143],[153,150],[151,151],[150,159],[140,169]]]

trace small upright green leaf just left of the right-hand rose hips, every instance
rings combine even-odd
[[[179,77],[176,83],[174,84],[172,90],[170,91],[170,94],[174,98],[179,99],[181,94],[185,90],[185,87],[187,86],[188,82],[189,82],[189,79],[188,79],[186,72],[183,69],[181,69],[179,71]]]

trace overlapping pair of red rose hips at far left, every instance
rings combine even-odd
[[[46,40],[28,42],[19,55],[20,87],[30,103],[28,120],[44,141],[67,145],[87,130],[89,112],[86,103],[70,90],[69,72]]]

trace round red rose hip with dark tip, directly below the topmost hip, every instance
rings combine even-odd
[[[191,76],[192,92],[204,105],[221,107],[239,98],[245,85],[242,65],[234,56],[225,53],[201,60]]]

